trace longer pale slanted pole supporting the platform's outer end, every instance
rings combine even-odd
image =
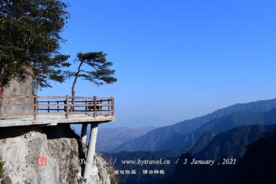
[[[84,168],[84,173],[83,173],[83,184],[89,183],[89,177],[90,177],[92,164],[94,161],[94,155],[95,155],[98,125],[99,123],[91,124],[91,131],[90,131],[91,133],[90,133],[90,139],[89,139],[89,145],[88,145],[88,151],[87,151],[87,157],[86,157],[86,167]]]

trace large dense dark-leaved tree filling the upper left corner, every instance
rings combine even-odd
[[[32,70],[34,90],[63,82],[68,55],[59,53],[59,33],[69,14],[59,0],[0,1],[0,87]]]

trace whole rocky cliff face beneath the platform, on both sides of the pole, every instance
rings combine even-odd
[[[69,125],[1,128],[3,183],[81,183],[86,150]],[[90,183],[110,184],[112,168],[95,159]]]

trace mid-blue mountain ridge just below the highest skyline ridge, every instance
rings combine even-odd
[[[242,125],[270,125],[276,122],[276,108],[268,112],[235,112],[229,116],[223,116],[218,119],[209,121],[202,125],[197,130],[188,134],[175,134],[170,139],[164,141],[157,147],[157,150],[179,150],[185,152],[190,150],[198,139],[206,132],[213,135],[220,132],[226,132],[234,127]]]

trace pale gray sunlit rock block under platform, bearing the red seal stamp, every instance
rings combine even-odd
[[[32,132],[32,134],[33,136],[17,136],[0,140],[0,156],[4,162],[4,183],[58,183],[59,165],[50,155],[46,135],[39,132]],[[39,156],[47,158],[47,165],[37,165]]]

